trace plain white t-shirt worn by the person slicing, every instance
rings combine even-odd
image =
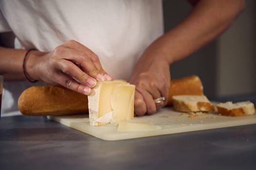
[[[128,79],[142,52],[163,34],[162,1],[1,0],[0,32],[8,31],[21,48],[39,51],[76,40],[96,53],[115,79]],[[17,89],[17,82],[4,82],[4,88],[17,98],[28,87],[23,84]],[[3,112],[17,108],[17,99],[12,106],[5,100],[10,99],[3,94]]]

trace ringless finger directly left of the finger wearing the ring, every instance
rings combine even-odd
[[[146,91],[145,89],[139,87],[136,87],[136,90],[138,90],[138,92],[143,96],[143,99],[146,103],[146,113],[149,115],[156,113],[156,103],[152,95],[148,93],[148,91]]]

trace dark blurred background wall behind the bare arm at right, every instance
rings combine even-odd
[[[165,31],[192,10],[186,0],[164,0]],[[185,48],[185,47],[184,47]],[[171,65],[172,79],[199,75],[209,97],[256,94],[256,0],[215,41]]]

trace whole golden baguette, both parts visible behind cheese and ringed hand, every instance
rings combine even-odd
[[[167,105],[172,105],[173,95],[202,95],[198,76],[192,75],[170,82]],[[60,86],[32,86],[24,90],[18,99],[20,113],[28,116],[57,116],[88,113],[86,95]]]

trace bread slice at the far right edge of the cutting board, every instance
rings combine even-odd
[[[244,116],[255,113],[254,103],[246,102],[225,102],[217,104],[219,114],[225,116]]]

